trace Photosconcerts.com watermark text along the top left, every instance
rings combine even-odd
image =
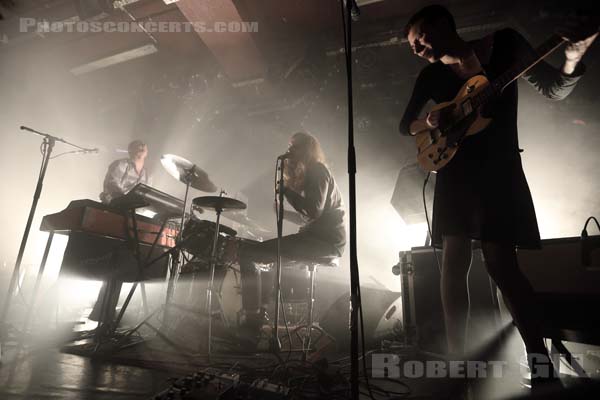
[[[256,33],[256,21],[178,22],[178,21],[47,21],[21,18],[21,33]]]

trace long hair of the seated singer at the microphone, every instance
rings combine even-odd
[[[306,169],[314,163],[325,164],[325,154],[319,140],[306,132],[294,133],[291,143],[297,151],[298,157],[295,157],[294,161],[287,160],[284,179],[288,187],[301,193],[304,190]]]

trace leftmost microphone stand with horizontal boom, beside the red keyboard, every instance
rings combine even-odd
[[[79,149],[79,151],[82,152],[95,152],[96,149],[86,149],[84,147],[78,146],[76,144],[70,143],[64,139],[61,139],[59,137],[47,134],[47,133],[43,133],[43,132],[39,132],[36,131],[34,129],[28,128],[26,126],[21,126],[21,130],[25,130],[25,131],[29,131],[32,133],[35,133],[36,135],[40,135],[42,136],[44,139],[42,140],[42,146],[41,146],[41,151],[42,151],[42,165],[40,167],[40,174],[38,177],[38,182],[37,182],[37,186],[35,188],[35,192],[33,194],[33,202],[31,204],[31,209],[29,210],[29,217],[27,218],[27,224],[25,225],[25,232],[23,233],[23,238],[21,239],[21,245],[19,247],[19,253],[17,255],[17,260],[15,262],[15,267],[13,269],[12,272],[12,276],[10,278],[10,283],[8,285],[8,292],[6,294],[6,300],[4,301],[4,305],[2,307],[2,314],[0,314],[0,342],[3,342],[5,340],[5,336],[7,333],[7,322],[6,319],[8,317],[8,310],[10,308],[11,305],[11,299],[12,299],[12,294],[13,291],[15,289],[17,280],[19,279],[20,276],[20,271],[21,271],[21,263],[23,261],[23,254],[25,253],[25,246],[27,244],[27,239],[29,238],[29,232],[31,230],[31,224],[33,223],[33,217],[35,216],[35,211],[37,209],[37,203],[38,200],[42,194],[42,188],[43,188],[43,182],[44,182],[44,178],[46,176],[46,170],[48,169],[48,164],[50,162],[51,159],[51,154],[52,154],[52,150],[54,149],[54,145],[56,144],[56,142],[61,142],[64,144],[67,144],[69,146],[73,146],[77,149]],[[47,255],[45,255],[46,257]],[[43,263],[45,264],[45,262]],[[42,264],[42,265],[43,265]],[[43,267],[40,267],[40,270],[38,272],[38,276],[40,274],[42,274],[43,271]],[[29,305],[30,308],[33,307],[33,302],[35,302],[35,297],[36,297],[36,293],[37,293],[37,287],[39,285],[39,279],[36,282],[36,287],[34,288],[34,293],[33,293],[33,299],[32,299],[32,303]]]

